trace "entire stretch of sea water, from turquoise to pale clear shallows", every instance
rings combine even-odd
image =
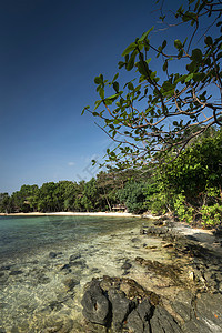
[[[141,224],[135,218],[0,218],[0,332],[81,332],[83,286],[93,276],[142,283],[135,256],[169,260],[148,251],[161,241],[140,235]]]

